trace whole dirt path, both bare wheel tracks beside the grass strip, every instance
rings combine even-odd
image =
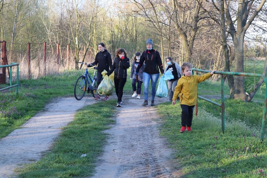
[[[116,96],[110,98],[116,99]],[[168,99],[155,98],[156,104],[165,101]],[[73,120],[76,111],[95,102],[100,101],[92,97],[80,101],[74,97],[57,99],[21,129],[0,139],[0,177],[15,177],[13,170],[17,166],[39,160],[42,153],[49,150],[60,128]],[[180,177],[181,173],[171,162],[172,150],[159,136],[157,121],[160,118],[155,107],[143,107],[142,102],[142,99],[123,96],[122,107],[114,118],[116,124],[105,131],[111,137],[97,162],[94,177]]]

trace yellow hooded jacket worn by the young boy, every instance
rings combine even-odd
[[[211,77],[211,73],[203,74],[201,76],[191,75],[189,77],[182,76],[175,86],[172,100],[177,100],[180,94],[180,104],[188,106],[196,105],[197,100],[197,84],[207,80]]]

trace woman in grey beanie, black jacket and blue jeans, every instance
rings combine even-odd
[[[156,85],[161,74],[164,74],[164,69],[160,57],[160,53],[153,49],[152,39],[146,41],[147,49],[141,55],[135,75],[138,75],[140,68],[144,63],[143,83],[144,83],[144,103],[143,106],[148,105],[148,86],[151,80],[151,106],[155,106],[154,99],[156,95]]]

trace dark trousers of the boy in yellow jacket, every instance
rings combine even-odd
[[[188,106],[188,105],[185,105],[185,104],[181,104],[181,108],[182,108],[182,122],[181,122],[181,125],[182,126],[191,127],[192,119],[193,119],[194,107],[195,107],[195,105]]]

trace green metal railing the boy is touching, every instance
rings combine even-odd
[[[200,70],[200,69],[195,69],[192,68],[192,71],[199,71],[199,72],[204,72],[208,73],[211,71],[205,71],[205,70]],[[263,110],[263,117],[262,117],[262,124],[261,124],[261,131],[260,131],[260,141],[263,141],[264,139],[264,129],[265,129],[265,124],[266,124],[266,113],[267,113],[267,78],[262,75],[262,74],[254,74],[254,73],[244,73],[244,72],[223,72],[223,71],[215,71],[214,74],[220,74],[221,75],[221,104],[211,101],[207,98],[200,97],[198,98],[203,99],[207,102],[210,102],[212,104],[215,104],[219,107],[222,108],[222,132],[225,130],[225,100],[224,100],[224,80],[223,80],[223,75],[235,75],[235,76],[253,76],[253,77],[261,77],[263,78],[266,89],[265,89],[265,103],[264,103],[264,110]],[[196,108],[197,111],[197,108]]]

